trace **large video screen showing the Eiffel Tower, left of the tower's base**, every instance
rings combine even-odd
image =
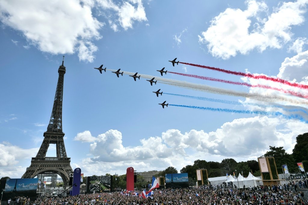
[[[5,191],[2,198],[4,200],[13,199],[17,196],[27,196],[36,199],[38,189],[38,178],[31,179],[6,179]]]

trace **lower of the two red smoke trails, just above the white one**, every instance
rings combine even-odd
[[[229,83],[229,84],[233,84],[233,85],[243,85],[243,86],[247,86],[247,87],[261,87],[261,88],[265,88],[265,89],[271,89],[271,90],[277,90],[283,93],[287,93],[287,94],[291,94],[300,98],[308,98],[307,95],[302,95],[300,93],[294,92],[294,91],[290,91],[290,90],[284,90],[281,88],[275,88],[275,87],[271,87],[271,86],[266,86],[266,85],[251,85],[247,82],[234,82],[234,81],[229,81],[229,80],[222,80],[222,79],[218,79],[218,78],[210,78],[210,77],[205,77],[205,76],[200,76],[200,75],[192,75],[192,74],[184,74],[184,73],[176,73],[176,72],[171,72],[171,71],[167,71],[168,73],[173,73],[173,74],[177,74],[177,75],[183,75],[183,76],[188,76],[188,77],[192,77],[192,78],[199,78],[202,80],[211,80],[211,81],[216,81],[216,82],[224,82],[224,83]]]

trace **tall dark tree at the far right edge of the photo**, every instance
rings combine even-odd
[[[296,144],[293,149],[293,157],[296,163],[308,159],[308,133],[304,133],[296,137]]]

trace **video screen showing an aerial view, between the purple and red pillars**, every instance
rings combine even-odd
[[[87,193],[93,193],[93,191],[102,192],[110,191],[112,176],[96,176],[87,177]]]

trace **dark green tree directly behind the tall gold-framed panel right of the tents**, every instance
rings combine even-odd
[[[264,154],[264,156],[265,157],[270,157],[270,156],[274,157],[278,174],[283,173],[282,168],[281,168],[283,164],[286,164],[288,166],[290,173],[298,171],[297,167],[294,166],[294,165],[296,165],[296,163],[295,163],[293,156],[286,153],[286,150],[283,149],[283,147],[275,147],[275,146],[272,147],[272,146],[270,146],[270,151],[267,151]]]

